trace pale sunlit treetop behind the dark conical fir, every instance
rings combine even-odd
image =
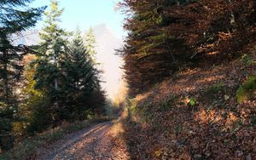
[[[96,38],[94,36],[94,31],[91,27],[84,37],[84,45],[87,53],[90,56],[90,59],[94,64],[96,64]]]

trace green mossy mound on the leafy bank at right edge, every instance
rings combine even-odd
[[[256,92],[256,76],[251,76],[236,91],[236,100],[241,103],[250,100],[255,96]]]

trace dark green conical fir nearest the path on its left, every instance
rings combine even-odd
[[[67,119],[82,120],[89,110],[87,100],[91,94],[100,90],[98,71],[91,60],[90,53],[84,48],[79,29],[75,32],[70,51],[66,54],[61,68],[65,74],[63,99],[67,111],[62,111]],[[95,104],[96,105],[96,104]]]

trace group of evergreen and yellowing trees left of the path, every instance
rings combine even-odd
[[[31,2],[0,3],[0,151],[20,136],[104,112],[93,31],[83,38],[79,29],[63,30],[56,0],[45,12],[28,8]],[[13,35],[35,26],[43,13],[41,42],[15,46]]]

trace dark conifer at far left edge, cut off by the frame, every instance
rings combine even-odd
[[[35,26],[44,8],[28,9],[32,0],[1,1],[0,3],[0,150],[12,146],[12,125],[17,116],[15,87],[20,80],[22,57],[26,46],[14,46],[12,35]]]

